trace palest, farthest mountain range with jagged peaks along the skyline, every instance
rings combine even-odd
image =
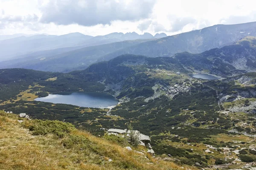
[[[157,38],[166,37],[166,34],[156,34]],[[93,45],[107,44],[124,40],[154,39],[149,33],[139,35],[132,33],[111,33],[104,36],[89,36],[81,33],[70,33],[65,35],[23,35],[14,34],[10,36],[2,35],[0,37],[0,61],[9,58],[20,58],[23,55],[29,56],[36,51],[52,50],[56,48],[70,48],[79,46],[79,48]],[[1,40],[2,39],[2,40]],[[81,46],[81,47],[80,47]],[[65,52],[67,50],[64,50]],[[21,56],[20,56],[21,55]],[[52,54],[54,55],[54,53]]]

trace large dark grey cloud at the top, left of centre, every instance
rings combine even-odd
[[[109,24],[114,20],[148,18],[156,0],[50,0],[41,8],[42,23],[82,26]]]

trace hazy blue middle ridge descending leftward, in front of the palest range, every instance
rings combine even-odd
[[[60,52],[57,51],[58,49],[52,51],[42,51],[38,52],[38,54],[33,54],[32,57],[0,62],[0,68],[29,68],[35,70],[60,72],[68,72],[76,69],[82,70],[87,68],[90,64],[97,62],[97,59],[105,54],[145,41],[149,40],[127,40],[123,42],[113,42],[110,44],[89,46],[85,48],[81,48],[81,46],[79,46],[80,49],[76,49],[75,51],[71,51],[71,49],[67,48],[59,49]],[[64,50],[69,50],[69,52],[61,53]],[[57,52],[57,55],[50,55]]]

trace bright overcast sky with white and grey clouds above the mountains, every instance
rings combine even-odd
[[[256,21],[256,0],[0,0],[0,34],[179,34]]]

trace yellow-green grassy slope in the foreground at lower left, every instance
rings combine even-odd
[[[128,151],[116,143],[79,131],[71,124],[37,120],[19,123],[17,119],[20,118],[15,114],[0,111],[2,170],[183,169],[172,162]],[[44,135],[35,135],[38,133]],[[109,159],[113,161],[108,161]],[[189,168],[193,170],[192,167]]]

